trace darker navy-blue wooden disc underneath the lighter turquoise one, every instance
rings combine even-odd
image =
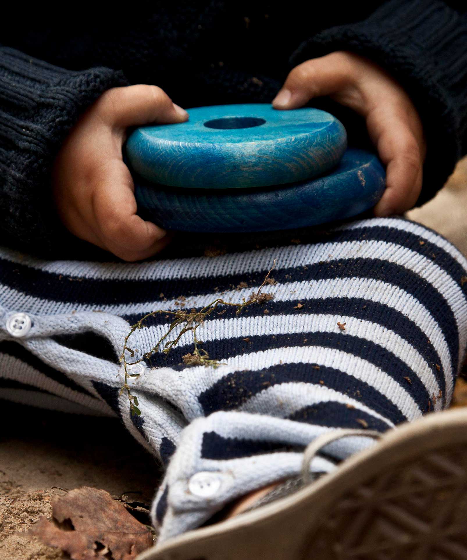
[[[329,175],[274,188],[177,189],[135,176],[138,213],[167,230],[286,230],[357,216],[385,190],[385,171],[372,153],[349,149]]]

